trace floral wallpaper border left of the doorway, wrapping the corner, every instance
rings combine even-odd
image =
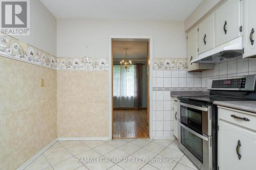
[[[57,58],[3,33],[0,33],[0,56],[51,69],[109,70],[106,58]]]

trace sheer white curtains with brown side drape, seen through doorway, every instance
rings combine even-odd
[[[132,65],[124,72],[120,65],[113,65],[114,108],[139,108],[142,105],[142,65]]]

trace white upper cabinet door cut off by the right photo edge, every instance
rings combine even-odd
[[[256,1],[244,1],[244,56],[251,57],[256,55]]]

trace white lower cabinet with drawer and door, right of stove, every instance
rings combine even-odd
[[[249,121],[231,115],[246,117]],[[218,116],[219,169],[256,169],[256,114],[218,108]]]

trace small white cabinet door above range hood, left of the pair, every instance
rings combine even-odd
[[[199,54],[214,48],[214,13],[205,18],[198,26]]]

